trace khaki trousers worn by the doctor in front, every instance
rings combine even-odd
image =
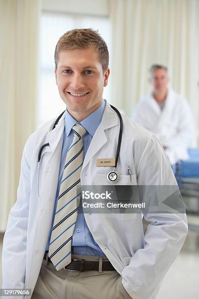
[[[72,258],[98,260],[98,256],[74,255]],[[108,260],[100,257],[100,262]],[[43,260],[31,299],[128,299],[117,271],[56,270]]]

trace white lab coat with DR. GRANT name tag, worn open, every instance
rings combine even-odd
[[[65,113],[64,113],[65,114]],[[17,202],[12,207],[2,250],[3,288],[34,290],[51,228],[63,140],[64,114],[38,128],[24,147]],[[119,184],[176,185],[168,159],[157,138],[125,116],[117,170]],[[119,136],[119,118],[106,103],[99,127],[87,150],[82,185],[108,184],[112,167],[96,167],[98,158],[113,158]],[[42,151],[38,185],[38,152]],[[130,165],[132,181],[127,175]],[[178,187],[177,187],[178,188]],[[159,285],[187,235],[185,214],[144,214],[154,221],[143,235],[141,214],[85,214],[95,241],[122,277],[133,299],[154,299]],[[29,298],[29,297],[27,297]]]

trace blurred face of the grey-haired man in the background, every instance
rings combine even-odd
[[[153,71],[151,80],[155,92],[162,93],[166,91],[169,79],[167,71],[163,67]]]

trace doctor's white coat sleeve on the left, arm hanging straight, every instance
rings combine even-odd
[[[21,159],[17,201],[11,208],[2,248],[2,288],[24,288],[30,196],[28,141]],[[5,297],[6,298],[6,297]]]

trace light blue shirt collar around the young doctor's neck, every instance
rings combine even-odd
[[[93,111],[90,115],[88,115],[81,122],[77,122],[77,120],[75,120],[66,109],[66,113],[65,113],[66,136],[68,137],[73,126],[78,123],[83,128],[85,128],[87,130],[87,132],[93,137],[96,129],[100,125],[105,105],[106,105],[106,103],[105,103],[105,100],[103,99],[100,107],[98,107],[95,111]]]

